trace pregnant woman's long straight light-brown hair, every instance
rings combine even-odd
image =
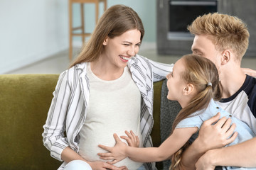
[[[102,53],[103,42],[107,37],[114,38],[132,29],[140,31],[140,40],[142,41],[144,36],[142,20],[132,8],[124,5],[115,5],[108,8],[95,26],[90,40],[74,62],[70,64],[70,67],[81,62],[97,60]]]

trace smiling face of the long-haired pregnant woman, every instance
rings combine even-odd
[[[127,30],[120,36],[107,38],[104,42],[102,60],[112,67],[124,68],[131,57],[139,52],[141,44],[141,33],[139,30]]]

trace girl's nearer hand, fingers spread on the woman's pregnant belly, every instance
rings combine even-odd
[[[107,162],[109,164],[115,164],[122,159],[126,158],[126,149],[127,144],[122,142],[116,133],[114,133],[114,140],[116,141],[116,145],[114,147],[107,147],[105,145],[99,145],[100,148],[105,149],[108,153],[98,153],[97,155],[100,156],[100,159],[104,160],[112,160],[111,162]]]

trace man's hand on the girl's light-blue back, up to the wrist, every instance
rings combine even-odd
[[[204,152],[209,149],[224,147],[233,142],[235,137],[238,136],[238,132],[233,134],[235,123],[230,126],[230,118],[227,119],[223,117],[220,120],[219,118],[220,113],[217,113],[213,118],[206,120],[199,130],[199,135],[196,140],[198,140],[198,143],[201,143]],[[213,125],[213,123],[215,124]]]

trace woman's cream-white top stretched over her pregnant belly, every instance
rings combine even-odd
[[[90,98],[85,124],[79,133],[79,154],[90,162],[104,161],[97,153],[106,151],[97,145],[114,147],[113,134],[117,133],[120,137],[126,135],[125,130],[132,130],[135,135],[138,135],[140,147],[142,147],[141,94],[132,80],[129,69],[126,67],[118,79],[104,81],[92,73],[88,63],[87,77],[90,80]],[[126,142],[126,140],[123,141]],[[138,169],[142,163],[126,158],[114,165]]]

